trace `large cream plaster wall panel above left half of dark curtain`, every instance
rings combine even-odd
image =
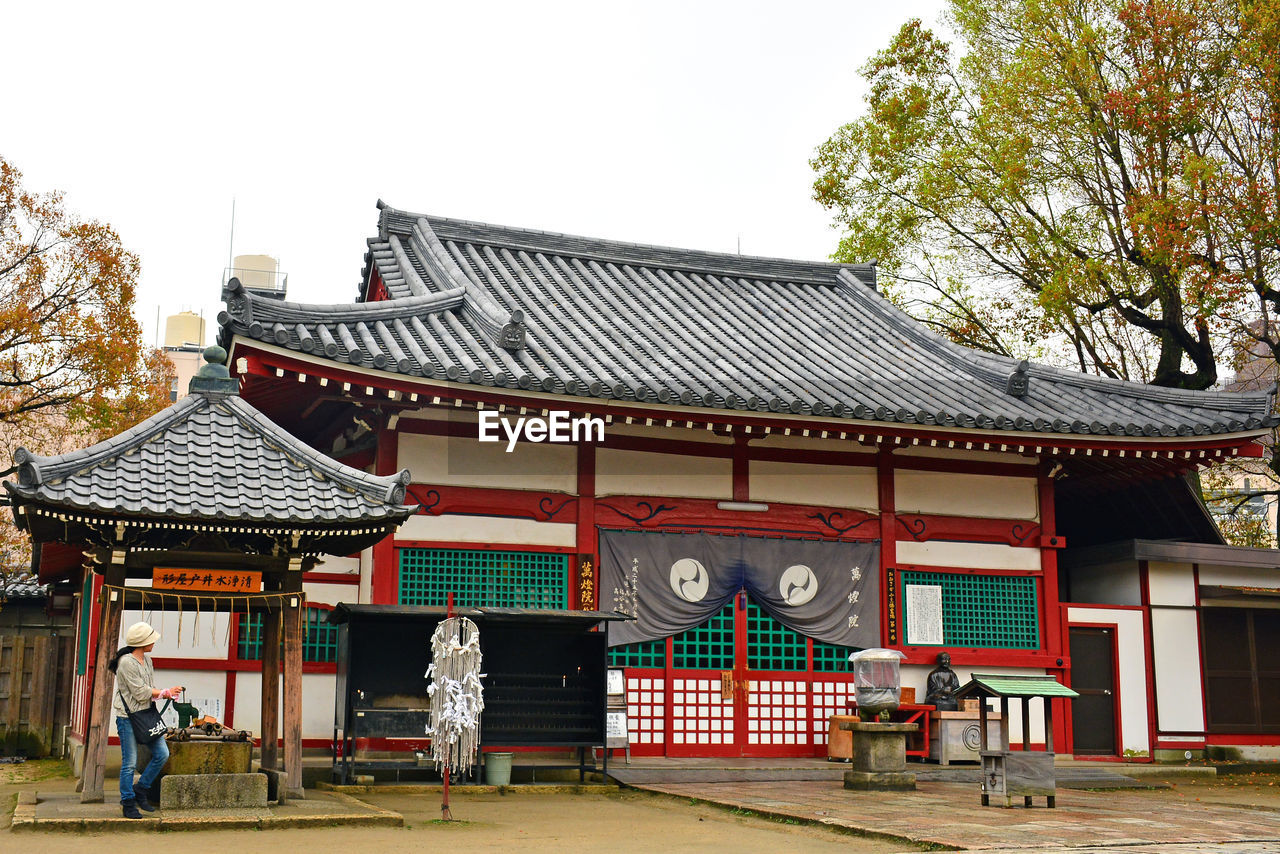
[[[595,494],[730,501],[733,497],[733,461],[599,448],[595,452]]]

